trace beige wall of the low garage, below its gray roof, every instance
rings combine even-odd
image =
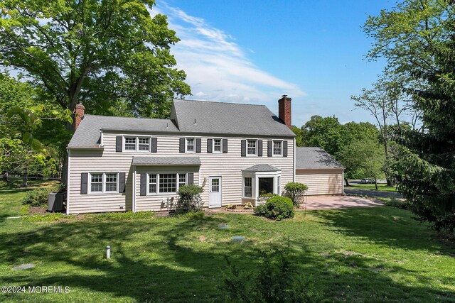
[[[343,170],[296,170],[296,182],[306,184],[309,195],[342,194]]]

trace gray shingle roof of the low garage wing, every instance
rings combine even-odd
[[[296,169],[343,168],[322,148],[296,148]]]

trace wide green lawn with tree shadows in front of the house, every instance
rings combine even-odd
[[[18,203],[22,194],[3,193],[1,204]],[[38,222],[2,216],[0,285],[70,292],[0,294],[0,301],[218,302],[228,270],[224,255],[251,272],[260,250],[290,238],[294,263],[326,302],[455,302],[454,244],[441,243],[411,216],[387,206],[298,212],[282,222],[243,214]],[[218,228],[224,224],[231,228]],[[104,258],[107,245],[111,260]],[[23,263],[36,267],[11,270]]]

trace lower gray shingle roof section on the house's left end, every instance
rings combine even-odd
[[[77,131],[75,131],[73,138],[71,138],[68,148],[97,147],[101,129],[118,131],[178,131],[178,128],[168,119],[140,119],[86,114],[80,122]]]

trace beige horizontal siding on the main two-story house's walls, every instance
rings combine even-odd
[[[116,136],[153,136],[156,137],[157,153],[149,152],[123,152],[115,151]],[[179,153],[179,138],[201,138],[201,153]],[[227,138],[228,153],[207,153],[208,138]],[[247,156],[241,157],[241,141],[242,139],[259,139],[263,141],[263,156]],[[288,156],[267,157],[267,140],[284,139],[288,142]],[[269,164],[278,167],[281,172],[281,189],[287,182],[292,182],[293,177],[293,159],[294,159],[294,138],[260,138],[249,137],[242,138],[240,136],[195,136],[184,134],[154,134],[154,133],[113,133],[105,131],[103,133],[104,150],[71,150],[70,162],[70,201],[69,213],[82,212],[100,212],[100,211],[124,211],[132,210],[132,158],[133,156],[149,156],[149,157],[186,157],[188,155],[197,156],[200,158],[200,172],[194,175],[195,184],[204,184],[204,192],[202,194],[204,206],[208,206],[209,182],[210,176],[221,176],[222,184],[222,204],[242,203],[242,170],[256,164]],[[170,167],[171,168],[171,167]],[[139,191],[141,166],[137,167],[136,176],[137,186]],[[172,168],[173,169],[173,168]],[[151,171],[151,168],[146,168],[146,171]],[[181,170],[178,167],[178,170]],[[81,172],[126,172],[126,189],[123,194],[80,194],[80,174]],[[137,211],[139,210],[159,210],[161,200],[156,198],[147,198],[136,194]],[[120,206],[124,208],[121,209]]]

